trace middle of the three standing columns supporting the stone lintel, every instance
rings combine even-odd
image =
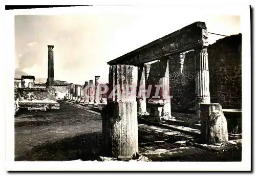
[[[171,118],[170,109],[170,87],[169,87],[169,58],[162,58],[159,62],[161,74],[159,79],[160,89],[160,99],[163,100],[162,117]]]

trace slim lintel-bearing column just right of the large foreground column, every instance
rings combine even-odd
[[[145,79],[145,65],[138,66],[138,87],[137,87],[137,108],[138,113],[148,114],[146,112],[146,79]]]

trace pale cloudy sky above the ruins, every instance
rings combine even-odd
[[[16,15],[15,70],[47,78],[47,45],[54,45],[55,80],[83,84],[100,75],[99,82],[106,83],[106,62],[196,21],[204,21],[211,33],[241,33],[240,16],[233,15]],[[223,37],[209,34],[209,43]]]

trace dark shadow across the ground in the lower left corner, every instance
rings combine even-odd
[[[55,142],[46,142],[24,152],[15,161],[70,161],[97,160],[100,153],[101,133],[90,133]]]

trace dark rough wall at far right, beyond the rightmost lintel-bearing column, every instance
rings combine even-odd
[[[242,34],[238,34],[208,47],[211,102],[222,108],[242,109],[241,46]]]

